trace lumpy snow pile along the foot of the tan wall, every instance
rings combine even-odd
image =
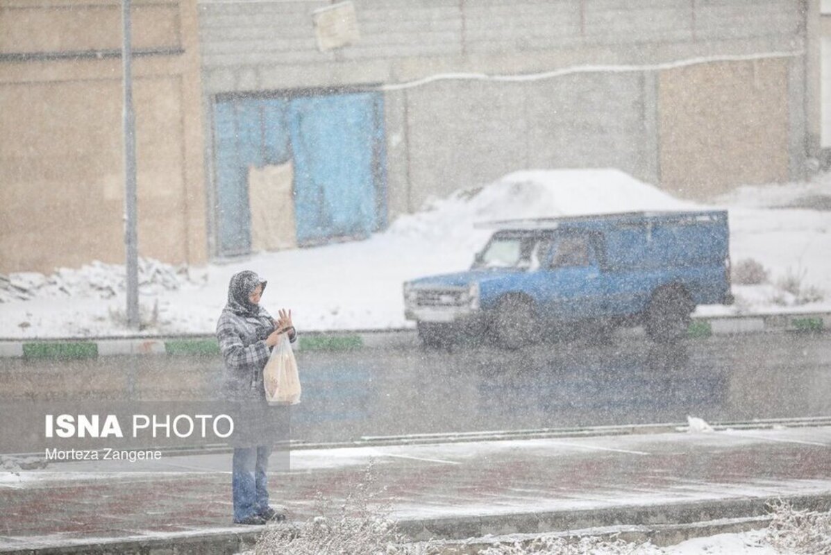
[[[156,295],[177,291],[197,280],[184,266],[177,268],[150,258],[139,258],[139,291]],[[88,297],[110,299],[125,291],[125,267],[94,261],[81,268],[59,268],[50,276],[42,273],[0,275],[0,302],[27,301],[32,298]]]

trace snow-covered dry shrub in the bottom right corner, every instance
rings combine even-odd
[[[766,540],[783,553],[831,553],[831,513],[794,509],[789,503],[770,503],[773,519]]]

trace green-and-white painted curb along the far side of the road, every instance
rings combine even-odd
[[[752,316],[694,317],[687,329],[691,339],[750,333],[812,333],[831,330],[831,312],[761,314]],[[358,330],[353,332],[305,332],[295,351],[356,351],[418,345],[411,328]],[[98,356],[169,355],[217,356],[213,335],[170,337],[97,337],[50,340],[0,339],[0,358],[67,359]]]

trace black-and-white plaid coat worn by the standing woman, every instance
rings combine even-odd
[[[224,396],[229,399],[264,398],[263,368],[271,347],[265,339],[274,331],[271,317],[260,309],[257,317],[243,317],[225,309],[216,324],[219,349],[225,361]],[[291,332],[294,342],[297,332]]]

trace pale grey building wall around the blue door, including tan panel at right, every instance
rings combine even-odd
[[[221,93],[380,86],[391,217],[523,168],[617,167],[691,197],[799,179],[812,1],[355,0],[360,41],[318,52],[312,12],[330,2],[200,0],[206,113]],[[676,61],[701,65],[660,66]],[[578,66],[605,69],[545,76]],[[540,78],[389,88],[450,73]],[[760,85],[770,121],[744,106]],[[702,123],[725,136],[702,142]]]

